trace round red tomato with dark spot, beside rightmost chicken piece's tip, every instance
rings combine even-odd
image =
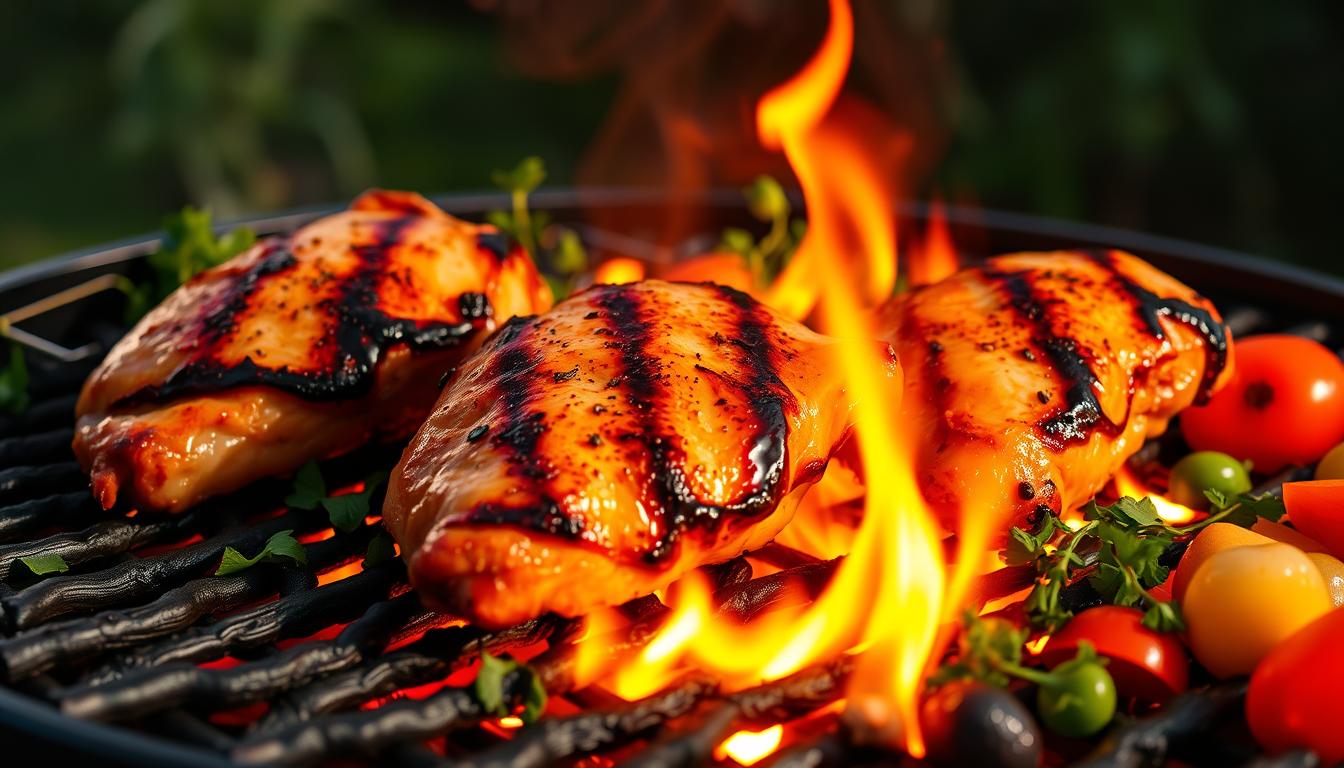
[[[1344,440],[1344,362],[1300,336],[1236,342],[1227,386],[1181,414],[1196,451],[1247,459],[1257,472],[1310,464]]]

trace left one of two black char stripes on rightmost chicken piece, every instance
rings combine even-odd
[[[1118,434],[1124,424],[1106,418],[1097,399],[1097,374],[1075,339],[1056,334],[1044,300],[1036,295],[1030,272],[985,270],[985,280],[999,284],[1008,305],[1032,327],[1032,340],[1063,383],[1063,404],[1036,424],[1042,443],[1062,451],[1071,441],[1086,441],[1094,429]]]

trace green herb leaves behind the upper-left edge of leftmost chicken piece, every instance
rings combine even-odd
[[[118,282],[126,295],[126,320],[134,321],[194,276],[238,256],[257,242],[247,227],[215,237],[210,211],[187,206],[164,221],[164,239],[145,261],[155,277],[146,284]]]

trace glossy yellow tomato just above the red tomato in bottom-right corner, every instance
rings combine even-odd
[[[1331,608],[1321,572],[1300,549],[1278,542],[1214,553],[1181,603],[1189,647],[1219,678],[1249,674],[1279,640]]]

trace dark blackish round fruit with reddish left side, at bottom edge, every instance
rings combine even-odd
[[[921,722],[929,759],[938,765],[1035,768],[1042,760],[1036,721],[1000,687],[948,683],[925,699]]]

